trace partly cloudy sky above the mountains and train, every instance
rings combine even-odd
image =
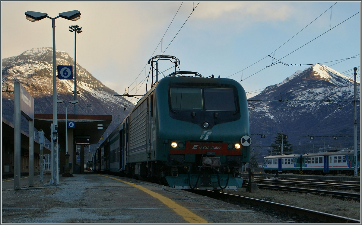
[[[56,49],[66,51],[74,57],[74,34],[69,32],[68,27],[82,27],[83,32],[77,35],[77,63],[119,94],[124,93],[129,86],[132,90],[130,94],[135,94],[136,89],[137,94],[144,94],[145,83],[142,86],[140,83],[150,70],[147,61],[153,55],[164,54],[180,59],[180,69],[183,71],[235,79],[249,92],[248,97],[251,97],[269,85],[282,82],[296,70],[309,67],[284,66],[279,63],[265,68],[273,61],[275,63],[275,60],[267,57],[269,54],[281,59],[327,31],[281,61],[287,64],[329,62],[324,64],[338,72],[360,66],[361,4],[337,2],[329,9],[334,3],[336,2],[184,2],[181,5],[181,2],[174,1],[2,1],[1,54],[2,58],[7,58],[34,47],[52,46],[51,20],[45,18],[30,22],[25,18],[26,11],[43,12],[56,17],[60,12],[79,10],[81,18],[75,22],[64,18],[55,20]],[[323,12],[325,13],[321,15]],[[175,14],[162,44],[157,47]],[[353,16],[354,14],[356,15]],[[351,16],[353,17],[350,18]],[[315,20],[317,17],[319,18]],[[313,20],[315,21],[310,24]],[[310,25],[300,32],[308,24]],[[298,35],[283,45],[298,32]],[[281,45],[283,46],[280,47]],[[274,53],[276,49],[278,50]],[[356,55],[358,58],[336,61]],[[263,59],[264,57],[266,58]],[[256,63],[259,60],[261,61]],[[335,64],[337,62],[340,63]],[[251,66],[253,63],[256,64]],[[171,62],[159,63],[162,71],[172,66]],[[265,69],[262,70],[263,68]],[[164,75],[171,72],[172,70],[168,70]],[[347,72],[346,75],[352,73]],[[150,86],[149,80],[148,87]]]

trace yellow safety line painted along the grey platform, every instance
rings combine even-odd
[[[105,175],[102,175],[102,176],[105,176]],[[196,214],[189,211],[185,207],[182,207],[181,205],[177,204],[173,200],[171,200],[171,199],[169,199],[169,198],[167,198],[165,196],[162,196],[159,193],[153,192],[153,191],[151,191],[151,190],[149,190],[149,189],[147,189],[145,187],[142,187],[142,186],[134,184],[134,183],[126,182],[126,181],[121,180],[121,179],[113,178],[113,177],[110,177],[110,176],[105,176],[105,177],[121,181],[121,182],[129,184],[129,185],[131,185],[131,186],[133,186],[135,188],[138,188],[141,191],[146,192],[147,194],[151,195],[152,197],[155,197],[156,199],[160,200],[163,204],[167,205],[169,208],[171,208],[177,214],[182,216],[182,218],[184,218],[184,220],[186,220],[186,221],[188,221],[190,223],[207,223],[207,220],[197,216]]]

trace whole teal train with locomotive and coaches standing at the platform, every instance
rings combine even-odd
[[[96,169],[178,189],[240,188],[251,144],[247,97],[235,80],[213,77],[175,71],[156,80],[98,148]]]

